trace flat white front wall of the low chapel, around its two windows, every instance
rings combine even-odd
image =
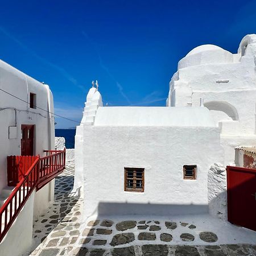
[[[83,150],[86,216],[208,212],[208,170],[224,160],[217,127],[84,126]],[[124,191],[124,167],[145,168],[143,193]]]

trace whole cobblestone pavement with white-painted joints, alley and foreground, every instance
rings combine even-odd
[[[83,222],[82,191],[71,192],[73,179],[74,163],[68,162],[55,181],[55,203],[34,223],[34,244],[26,255],[256,255],[256,245],[220,245],[221,234],[197,228],[193,221],[99,218]]]

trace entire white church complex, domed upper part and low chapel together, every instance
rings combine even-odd
[[[179,61],[166,107],[102,106],[89,90],[75,142],[85,217],[210,212],[226,218],[225,164],[255,144],[256,35],[238,53],[199,46]],[[204,102],[204,103],[203,103]]]

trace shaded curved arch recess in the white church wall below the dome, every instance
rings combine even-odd
[[[226,101],[208,101],[205,102],[204,106],[209,110],[224,112],[234,121],[238,121],[239,119],[237,109]]]

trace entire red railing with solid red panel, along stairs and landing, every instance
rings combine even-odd
[[[0,208],[0,242],[31,193],[42,188],[65,169],[64,150],[46,150],[47,156],[7,156],[8,185],[16,185]]]

